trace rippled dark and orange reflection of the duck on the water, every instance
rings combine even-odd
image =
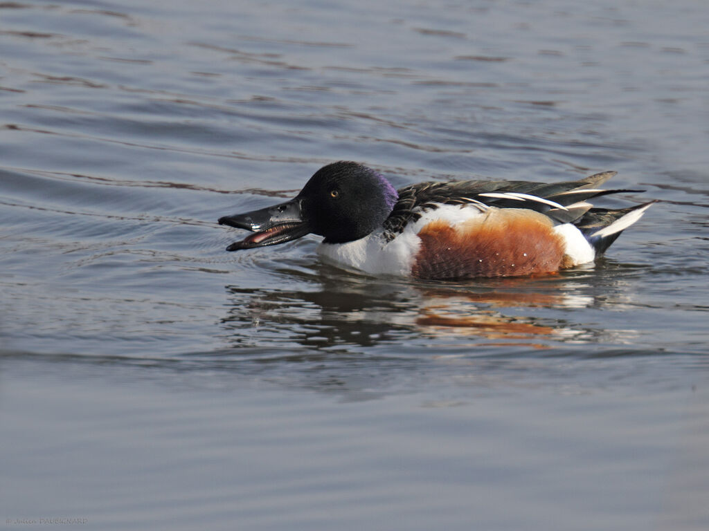
[[[549,348],[553,343],[596,342],[630,333],[574,323],[570,311],[615,299],[608,284],[600,298],[593,295],[586,275],[450,285],[333,275],[328,265],[320,267],[321,285],[303,290],[228,287],[230,307],[222,324],[230,342],[349,350],[387,343],[415,346],[419,341],[424,346],[435,336],[472,339],[486,346]]]

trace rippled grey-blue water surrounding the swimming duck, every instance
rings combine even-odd
[[[0,4],[0,518],[709,527],[707,28],[691,0]],[[531,279],[224,252],[218,217],[340,159],[661,202]]]

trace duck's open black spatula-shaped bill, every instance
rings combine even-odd
[[[227,251],[284,244],[311,232],[303,219],[301,202],[297,199],[245,214],[220,217],[219,224],[253,233],[241,241],[235,241],[226,248]]]

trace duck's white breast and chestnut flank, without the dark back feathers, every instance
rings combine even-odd
[[[374,275],[427,279],[552,273],[593,261],[579,229],[539,212],[440,205],[389,239],[385,229],[345,244],[320,244],[328,261]]]

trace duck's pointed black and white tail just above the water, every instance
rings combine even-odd
[[[657,200],[642,203],[635,207],[608,210],[591,208],[574,225],[581,231],[588,243],[596,249],[596,255],[605,253],[610,244],[620,236],[627,227],[637,222]]]

